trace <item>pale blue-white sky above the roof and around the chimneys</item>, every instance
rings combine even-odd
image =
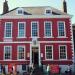
[[[3,2],[0,0],[0,14],[3,12]],[[9,10],[16,7],[28,7],[28,6],[51,6],[59,10],[63,10],[63,0],[7,0]],[[75,0],[66,0],[67,10],[70,15],[73,15],[71,21],[75,23]]]

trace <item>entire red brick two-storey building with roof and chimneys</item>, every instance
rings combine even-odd
[[[71,15],[50,6],[8,9],[4,2],[0,15],[0,64],[27,71],[29,64],[58,64],[73,61]]]

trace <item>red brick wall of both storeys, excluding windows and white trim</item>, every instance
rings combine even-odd
[[[39,38],[38,41],[71,41],[71,32],[70,32],[70,21],[69,19],[62,19],[62,18],[56,18],[56,19],[2,19],[0,23],[0,41],[2,42],[4,39],[4,23],[5,22],[13,22],[13,32],[12,32],[12,40],[13,41],[31,41],[31,21],[38,21],[39,22]],[[54,38],[43,38],[44,37],[44,21],[52,21],[52,32],[53,32],[53,37]],[[57,21],[65,21],[66,24],[66,36],[67,38],[58,38],[58,30],[57,30]],[[18,22],[26,22],[26,38],[17,38],[18,36]],[[25,45],[26,46],[26,53],[30,51],[30,44],[0,44],[0,60],[3,59],[3,46],[4,45],[11,45],[12,46],[12,59],[16,60],[17,59],[17,46],[18,45]],[[58,51],[58,46],[63,45],[62,43],[41,43],[40,44],[40,49],[41,52],[43,53],[43,58],[42,60],[45,60],[45,45],[53,45],[53,58],[55,60],[59,59],[59,51]],[[68,59],[72,59],[72,46],[70,43],[64,43],[64,45],[67,45],[67,56]],[[26,55],[27,56],[27,55]],[[28,57],[26,57],[27,60],[29,60]],[[64,62],[66,64],[66,62]]]

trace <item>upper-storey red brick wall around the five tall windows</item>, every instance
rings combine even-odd
[[[69,19],[3,19],[0,24],[0,40],[4,38],[4,23],[5,22],[13,22],[13,41],[30,41],[31,40],[31,21],[38,21],[39,22],[39,37],[40,41],[70,41],[71,40],[71,32],[70,32],[70,21]],[[43,38],[44,37],[44,21],[51,21],[52,22],[52,32],[53,37],[50,39]],[[68,38],[57,38],[58,37],[58,30],[57,30],[57,22],[58,21],[65,21],[66,24],[66,36]],[[18,36],[18,22],[26,22],[26,38],[19,39]]]

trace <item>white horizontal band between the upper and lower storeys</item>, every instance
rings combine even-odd
[[[11,41],[11,42],[0,42],[0,44],[12,44],[12,43],[32,43],[32,41]],[[72,43],[72,41],[38,41],[38,43]]]

